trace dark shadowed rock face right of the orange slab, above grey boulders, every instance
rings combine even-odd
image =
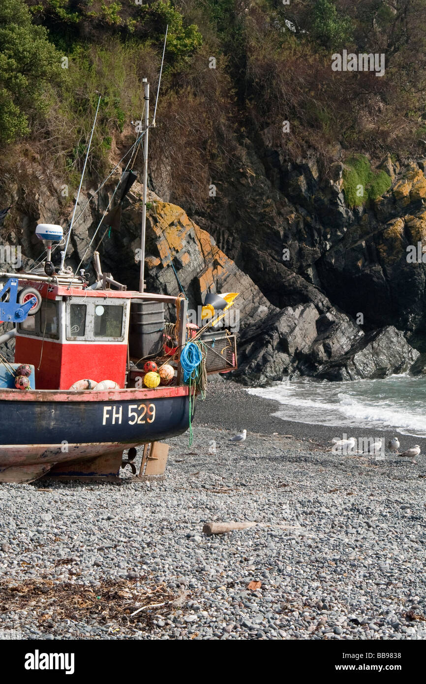
[[[247,143],[235,150],[256,176],[250,187],[237,175],[224,178],[211,209],[197,217],[202,228],[275,306],[312,301],[318,307],[325,293],[351,317],[361,313],[367,329],[393,325],[426,351],[426,264],[406,258],[409,245],[426,244],[425,160],[400,169],[387,156],[379,168],[393,177],[392,187],[371,206],[351,211],[341,161],[325,183],[309,159],[289,163],[285,150],[270,148],[269,137],[262,142],[260,149]]]

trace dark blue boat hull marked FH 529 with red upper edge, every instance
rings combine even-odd
[[[31,482],[48,471],[117,475],[124,449],[185,432],[194,402],[185,386],[0,391],[0,482]]]

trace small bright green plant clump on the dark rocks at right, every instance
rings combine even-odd
[[[343,192],[349,207],[360,207],[382,197],[392,181],[385,171],[375,171],[363,155],[356,155],[347,161],[343,171]]]

